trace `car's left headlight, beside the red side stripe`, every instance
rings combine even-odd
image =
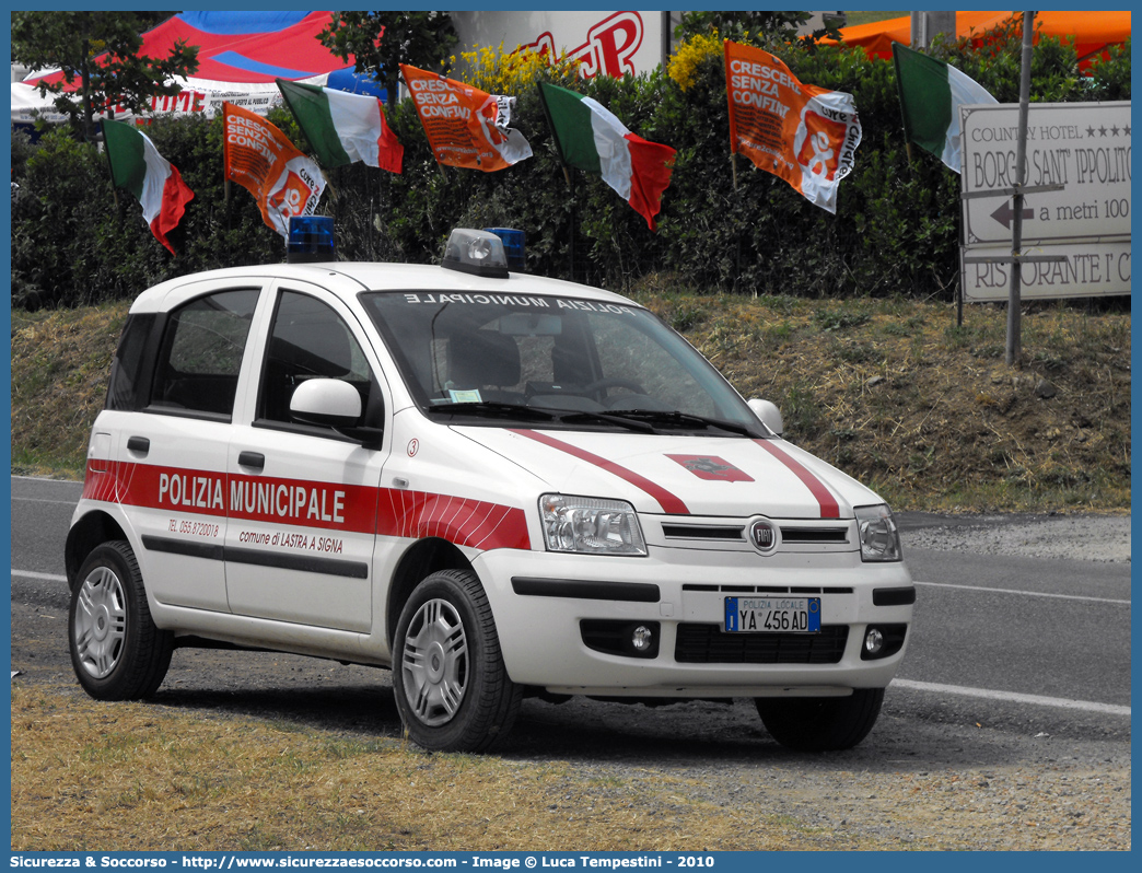
[[[539,512],[549,552],[646,554],[638,516],[624,500],[545,494]]]

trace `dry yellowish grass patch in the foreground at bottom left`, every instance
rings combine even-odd
[[[13,689],[14,851],[702,851],[853,848],[682,780],[426,754],[289,722]],[[861,849],[888,848],[875,839]]]

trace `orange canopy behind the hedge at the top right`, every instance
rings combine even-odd
[[[956,13],[957,37],[980,37],[986,31],[1003,24],[1022,13]],[[1086,67],[1091,59],[1108,46],[1125,42],[1131,37],[1131,14],[1126,11],[1042,11],[1037,13],[1036,39],[1040,37],[1072,39],[1078,51],[1079,65]],[[911,42],[911,19],[909,16],[890,18],[871,24],[856,24],[841,29],[842,41],[847,46],[861,46],[869,57],[891,58],[892,43],[904,46]],[[822,40],[835,42],[835,40]]]

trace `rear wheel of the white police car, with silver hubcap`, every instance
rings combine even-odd
[[[174,638],[151,619],[129,544],[104,543],[83,561],[72,591],[67,642],[79,683],[97,700],[137,700],[162,684]]]

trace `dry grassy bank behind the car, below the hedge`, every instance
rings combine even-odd
[[[668,277],[634,296],[898,510],[1129,511],[1128,312],[1029,306],[1013,369],[998,306],[958,326],[949,304],[699,296]],[[14,472],[81,475],[126,313],[13,313]]]

